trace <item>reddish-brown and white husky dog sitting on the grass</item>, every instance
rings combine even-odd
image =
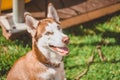
[[[53,5],[48,5],[46,19],[38,21],[26,14],[25,20],[32,50],[15,62],[7,80],[66,80],[63,57],[69,52],[69,38],[60,28]]]

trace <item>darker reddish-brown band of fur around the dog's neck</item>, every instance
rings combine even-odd
[[[60,66],[60,63],[63,60],[62,56],[58,56],[57,59],[59,59],[58,63],[55,63],[53,61],[51,61],[49,58],[47,58],[44,53],[42,53],[42,50],[39,50],[37,45],[36,45],[36,41],[35,39],[32,40],[32,52],[35,55],[35,57],[37,58],[37,60],[39,60],[41,63],[43,63],[44,65],[48,66],[48,67],[54,67],[57,68]],[[50,52],[49,54],[52,54],[53,52]],[[56,53],[54,53],[56,54]]]

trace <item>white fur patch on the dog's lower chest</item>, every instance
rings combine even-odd
[[[61,63],[58,68],[48,68],[47,71],[38,74],[43,80],[66,80],[64,72],[64,64]]]

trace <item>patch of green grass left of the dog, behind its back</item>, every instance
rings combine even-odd
[[[6,40],[0,29],[0,80],[5,80],[6,74],[14,61],[29,50],[29,45],[24,45],[23,41]]]

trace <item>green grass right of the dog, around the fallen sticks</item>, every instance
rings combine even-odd
[[[86,69],[87,60],[94,50],[94,63],[81,80],[120,80],[120,15],[105,22],[93,23],[67,30],[71,38],[70,54],[65,58],[67,78],[74,80]],[[96,51],[101,41],[105,43],[101,51],[107,58],[106,62],[100,60]]]

